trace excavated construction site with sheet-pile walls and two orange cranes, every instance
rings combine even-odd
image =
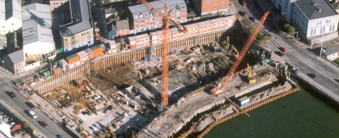
[[[268,13],[252,34],[237,21],[227,31],[172,47],[167,23],[187,30],[164,11],[164,41],[150,46],[157,50],[140,49],[142,58],[135,56],[139,51],[103,57],[33,89],[85,138],[200,137],[218,119],[295,89],[289,81],[295,69],[271,62],[271,53],[252,45]]]

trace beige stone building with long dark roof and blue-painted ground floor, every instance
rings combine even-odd
[[[87,0],[70,0],[72,22],[61,26],[63,51],[72,53],[94,44],[93,28]]]

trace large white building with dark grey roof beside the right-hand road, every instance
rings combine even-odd
[[[327,0],[272,0],[306,44],[338,37],[339,15]]]

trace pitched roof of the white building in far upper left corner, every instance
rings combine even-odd
[[[6,1],[6,20],[15,17],[21,20],[21,1],[7,0]]]

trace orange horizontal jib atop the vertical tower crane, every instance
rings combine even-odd
[[[148,3],[146,0],[138,0],[139,2],[141,2],[142,4],[144,4],[147,8],[151,9],[153,12],[155,12],[156,14],[160,15],[160,16],[164,16],[164,15],[168,15],[167,10],[164,10],[164,13],[162,13],[159,9],[156,9],[153,5],[151,5],[150,3]],[[165,14],[166,11],[166,14]],[[175,28],[178,29],[178,31],[180,30],[181,32],[186,33],[187,29],[185,27],[183,27],[182,25],[176,23],[175,21],[167,18],[167,21],[172,24]]]

